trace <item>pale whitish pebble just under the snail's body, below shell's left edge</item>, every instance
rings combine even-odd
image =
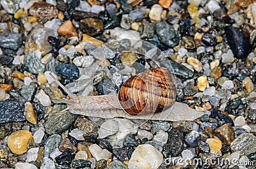
[[[107,119],[101,124],[98,131],[98,138],[106,138],[107,136],[114,135],[118,131],[118,122],[115,119]]]

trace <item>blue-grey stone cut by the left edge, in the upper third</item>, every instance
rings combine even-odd
[[[17,50],[21,45],[22,36],[19,33],[0,33],[0,47]]]

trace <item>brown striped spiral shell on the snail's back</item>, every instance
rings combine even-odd
[[[155,68],[124,82],[118,92],[118,100],[127,114],[154,114],[172,107],[176,94],[168,70]]]

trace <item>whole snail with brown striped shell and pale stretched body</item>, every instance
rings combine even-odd
[[[151,119],[165,121],[192,121],[204,113],[175,102],[177,90],[166,68],[146,70],[124,82],[118,94],[76,96],[56,78],[51,77],[70,96],[67,110],[72,114],[110,119]],[[63,110],[65,111],[65,110]]]

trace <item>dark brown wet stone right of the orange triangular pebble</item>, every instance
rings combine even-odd
[[[85,34],[95,36],[103,32],[103,22],[100,18],[84,18],[80,20],[80,28]]]

